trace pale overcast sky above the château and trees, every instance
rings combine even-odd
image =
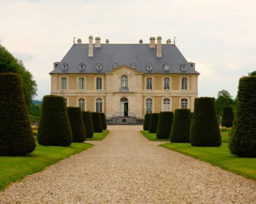
[[[38,85],[36,99],[50,94],[53,62],[73,37],[110,43],[149,43],[176,37],[183,56],[200,72],[199,96],[237,95],[239,78],[256,70],[255,0],[0,0],[0,42],[23,60]]]

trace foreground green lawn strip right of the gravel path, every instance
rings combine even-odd
[[[179,151],[256,181],[256,158],[239,158],[231,155],[227,145],[227,143],[222,143],[220,147],[193,147],[189,143],[165,143],[160,146]]]

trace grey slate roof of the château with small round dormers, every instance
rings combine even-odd
[[[143,73],[191,73],[199,74],[186,61],[175,44],[162,44],[162,57],[156,57],[157,45],[151,48],[149,44],[101,44],[94,47],[93,57],[88,57],[89,44],[73,44],[66,56],[58,63],[50,73],[106,73],[113,70],[113,64],[118,67],[126,65],[131,67],[136,64],[136,70]],[[68,64],[68,69],[63,70],[61,65]],[[78,65],[84,63],[86,68],[80,70]],[[96,65],[102,64],[102,69],[97,70]],[[146,65],[152,64],[153,69],[147,70]],[[169,65],[169,70],[163,68]],[[187,69],[181,70],[181,64]]]

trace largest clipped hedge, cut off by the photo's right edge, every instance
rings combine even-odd
[[[229,137],[229,150],[239,157],[256,157],[256,76],[239,81],[237,114]]]

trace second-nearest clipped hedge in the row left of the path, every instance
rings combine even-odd
[[[37,141],[46,146],[71,144],[72,131],[65,99],[62,96],[46,95],[42,99]]]

